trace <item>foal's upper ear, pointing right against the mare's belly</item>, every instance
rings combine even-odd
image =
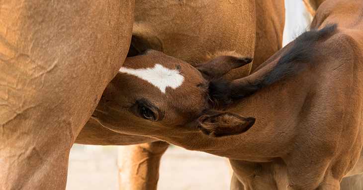
[[[198,69],[207,79],[222,77],[234,68],[251,63],[251,57],[219,56],[206,63],[198,65]]]

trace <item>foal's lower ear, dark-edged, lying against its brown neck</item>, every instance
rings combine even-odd
[[[204,115],[198,119],[200,130],[214,137],[246,132],[255,124],[255,121],[255,118],[244,118],[228,112]]]

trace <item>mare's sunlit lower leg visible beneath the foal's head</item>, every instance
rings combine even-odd
[[[156,190],[161,156],[169,143],[156,141],[118,148],[120,190]]]

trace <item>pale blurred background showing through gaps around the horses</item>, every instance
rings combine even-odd
[[[283,46],[306,31],[311,16],[302,0],[285,0]],[[118,190],[117,146],[74,144],[66,190]],[[171,146],[160,165],[158,190],[229,190],[228,161]]]

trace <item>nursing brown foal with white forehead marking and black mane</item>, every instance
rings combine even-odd
[[[251,59],[195,69],[155,51],[128,58],[92,118],[228,157],[233,190],[339,190],[363,172],[362,10],[359,0],[327,0],[311,31],[236,80],[220,77]]]

